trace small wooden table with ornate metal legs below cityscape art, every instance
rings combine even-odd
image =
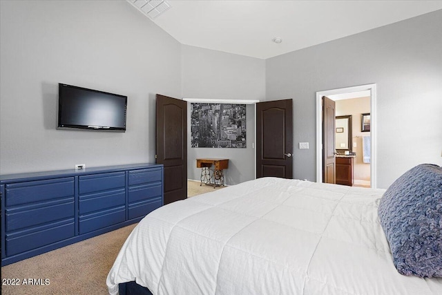
[[[214,166],[213,173],[210,173],[210,167]],[[223,169],[229,168],[229,159],[204,158],[196,159],[197,168],[201,168],[201,184],[213,185],[215,187],[224,187]],[[213,178],[213,182],[211,179]]]

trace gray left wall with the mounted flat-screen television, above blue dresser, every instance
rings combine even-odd
[[[155,162],[181,44],[126,1],[0,1],[0,173]],[[128,96],[126,133],[56,130],[58,83]]]

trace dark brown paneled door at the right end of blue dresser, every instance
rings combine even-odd
[[[164,204],[187,198],[187,102],[157,94],[157,164],[164,164]]]

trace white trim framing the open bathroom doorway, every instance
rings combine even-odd
[[[372,188],[376,188],[376,84],[338,88],[316,92],[316,182],[323,182],[323,103],[322,97],[356,91],[370,91],[370,136],[372,137],[370,178]]]

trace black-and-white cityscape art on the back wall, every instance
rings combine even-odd
[[[246,105],[191,103],[191,146],[245,149]]]

